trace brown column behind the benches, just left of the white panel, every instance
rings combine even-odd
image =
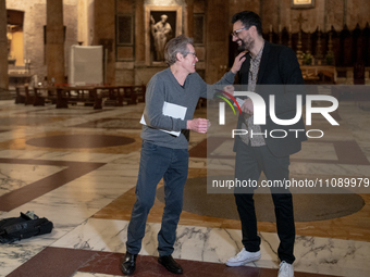
[[[46,61],[48,81],[64,84],[63,0],[47,0]]]

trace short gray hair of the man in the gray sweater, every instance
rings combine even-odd
[[[164,59],[169,66],[177,61],[176,54],[181,53],[183,56],[188,54],[187,45],[193,46],[193,38],[180,35],[171,39],[164,48]]]

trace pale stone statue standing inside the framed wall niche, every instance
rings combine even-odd
[[[156,23],[155,18],[150,16],[150,29],[155,39],[156,61],[164,61],[164,46],[172,35],[171,25],[166,20],[168,15],[162,14],[161,20]]]

